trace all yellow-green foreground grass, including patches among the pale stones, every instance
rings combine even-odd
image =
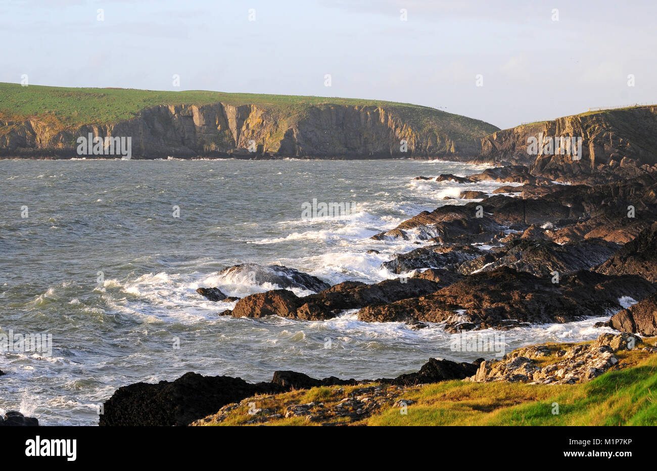
[[[559,361],[558,350],[579,344],[547,344],[551,354],[535,359],[540,366]],[[657,337],[644,338],[633,350],[619,350],[619,362],[612,371],[581,384],[522,384],[508,382],[447,381],[395,390],[382,386],[391,398],[374,415],[351,421],[331,417],[325,422],[371,426],[436,425],[657,425],[657,354],[644,352],[645,346],[657,345]],[[522,349],[518,352],[522,353]],[[284,416],[286,407],[301,403],[324,403],[330,407],[350,396],[359,386],[323,386],[294,390],[274,396],[245,399],[223,421],[208,425],[244,425],[253,419],[248,403],[270,409]],[[415,401],[407,413],[393,407],[398,399]],[[558,414],[554,414],[555,403]],[[316,410],[316,409],[315,409]],[[317,426],[305,417],[272,419],[268,426]]]

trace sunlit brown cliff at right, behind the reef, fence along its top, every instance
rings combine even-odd
[[[538,138],[539,133],[581,137],[581,159],[540,148],[537,155],[528,154],[528,139]],[[585,113],[497,131],[482,139],[479,160],[528,165],[532,174],[554,178],[619,167],[631,173],[657,164],[657,106]]]

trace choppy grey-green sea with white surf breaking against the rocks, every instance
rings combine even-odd
[[[371,236],[421,211],[465,204],[464,190],[492,194],[503,185],[415,177],[487,167],[413,159],[0,160],[0,413],[95,425],[117,388],[188,371],[254,382],[277,369],[373,379],[417,371],[432,357],[494,358],[499,352],[455,348],[440,324],[365,323],[353,310],[328,321],[236,319],[220,316],[235,302],[195,292],[218,287],[244,297],[277,288],[219,275],[244,262],[296,268],[331,284],[398,277],[382,262],[426,241]],[[321,203],[349,211],[304,215]],[[510,351],[596,338],[610,331],[594,327],[603,319],[489,334]]]

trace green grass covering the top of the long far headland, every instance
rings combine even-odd
[[[497,127],[478,119],[442,112],[434,108],[408,103],[357,98],[292,96],[212,91],[151,91],[136,89],[90,89],[68,87],[22,87],[16,83],[0,83],[0,119],[18,121],[32,118],[55,127],[72,129],[80,125],[116,123],[131,119],[142,110],[158,105],[208,105],[224,103],[233,106],[253,104],[264,108],[275,119],[287,124],[302,119],[309,110],[323,106],[381,107],[407,121],[420,132],[447,134],[452,139],[483,137]],[[281,138],[283,136],[281,128]]]

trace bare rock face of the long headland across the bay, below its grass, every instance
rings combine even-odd
[[[76,140],[91,133],[129,136],[132,156],[143,158],[472,157],[479,152],[478,139],[495,129],[459,117],[474,127],[468,136],[456,127],[426,127],[403,116],[404,111],[395,106],[324,104],[282,115],[264,106],[220,102],[154,106],[118,123],[63,130],[39,118],[5,119],[0,121],[0,155],[80,157]],[[406,152],[401,151],[401,140],[406,140]]]

